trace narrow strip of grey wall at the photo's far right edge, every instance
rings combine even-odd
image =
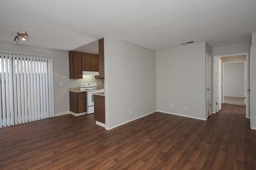
[[[256,129],[256,32],[252,33],[252,79],[251,79],[251,121],[252,127]]]

